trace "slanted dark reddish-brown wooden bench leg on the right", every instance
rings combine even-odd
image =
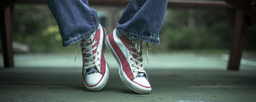
[[[228,70],[239,70],[247,29],[246,15],[242,11],[237,10],[234,23],[233,43],[230,49]]]

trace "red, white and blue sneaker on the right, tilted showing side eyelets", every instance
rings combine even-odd
[[[106,44],[119,66],[123,83],[139,94],[149,94],[151,86],[143,69],[142,41],[128,38],[113,30]]]

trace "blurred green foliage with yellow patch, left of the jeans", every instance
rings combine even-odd
[[[62,46],[58,26],[47,5],[17,4],[13,41],[29,45],[32,52],[52,52]]]

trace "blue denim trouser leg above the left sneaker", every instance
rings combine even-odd
[[[62,46],[79,42],[94,33],[98,27],[96,10],[88,6],[87,0],[46,0],[58,23]]]

